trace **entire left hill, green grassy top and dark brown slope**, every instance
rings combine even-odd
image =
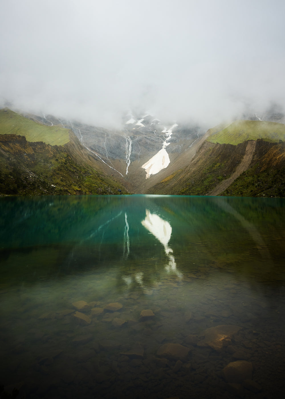
[[[0,110],[0,194],[127,193],[97,163],[71,130]]]

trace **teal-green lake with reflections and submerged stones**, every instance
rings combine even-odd
[[[284,199],[8,197],[0,213],[6,392],[283,397]]]

